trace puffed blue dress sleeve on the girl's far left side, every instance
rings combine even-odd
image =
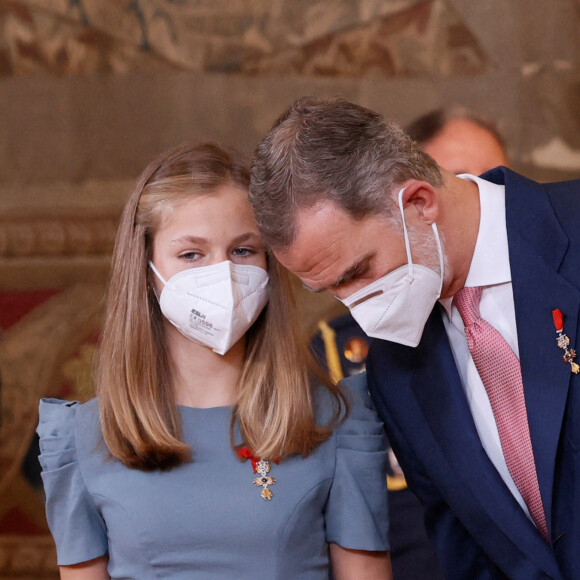
[[[46,494],[46,516],[54,537],[58,564],[86,562],[107,553],[105,523],[85,485],[76,443],[78,411],[97,413],[95,401],[87,405],[59,399],[42,399],[37,433],[39,461]]]

